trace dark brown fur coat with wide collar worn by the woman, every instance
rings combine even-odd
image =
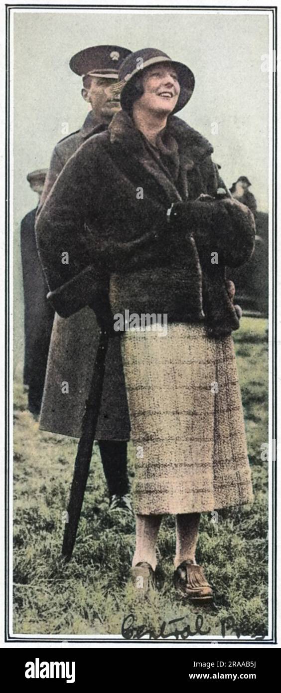
[[[129,309],[167,313],[168,322],[206,319],[214,336],[229,333],[239,321],[225,266],[251,257],[253,215],[232,198],[197,201],[226,191],[199,132],[170,116],[163,141],[179,158],[174,175],[121,111],[69,159],[37,221],[53,304],[61,315],[91,305],[107,324]]]

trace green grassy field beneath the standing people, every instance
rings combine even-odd
[[[100,457],[94,448],[78,538],[70,563],[60,558],[64,511],[77,441],[39,431],[26,410],[18,372],[15,382],[14,448],[14,629],[16,633],[96,635],[128,638],[149,630],[158,637],[192,633],[263,637],[267,633],[267,463],[260,446],[267,433],[266,321],[242,319],[235,333],[239,380],[253,473],[253,506],[201,516],[197,563],[215,586],[216,608],[181,602],[172,587],[174,518],[167,517],[158,541],[158,589],[141,597],[128,582],[134,552],[134,518],[108,512]],[[18,369],[19,370],[19,369]],[[131,448],[132,457],[132,448]],[[130,474],[134,474],[132,459]],[[202,618],[200,617],[202,615]],[[181,619],[177,624],[171,620]],[[129,622],[127,620],[127,626]],[[140,626],[137,631],[135,626]],[[142,628],[143,626],[143,628]],[[163,626],[162,626],[163,627]],[[184,632],[183,632],[183,629]]]

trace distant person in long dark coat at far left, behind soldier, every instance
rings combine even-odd
[[[40,196],[47,170],[28,173],[30,188]],[[35,215],[28,212],[21,222],[21,261],[24,282],[24,385],[28,385],[28,409],[39,414],[48,347],[51,339],[54,311],[46,300],[48,286],[36,247]]]

